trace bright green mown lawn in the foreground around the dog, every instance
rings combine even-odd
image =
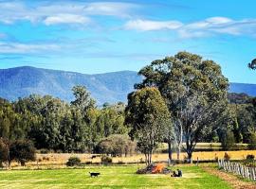
[[[84,169],[0,171],[0,188],[221,188],[230,186],[210,176],[197,166],[175,166],[183,178],[170,175],[137,175],[137,166],[85,167]],[[90,178],[89,171],[99,171],[99,178]]]

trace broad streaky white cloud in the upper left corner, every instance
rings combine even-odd
[[[18,1],[0,1],[0,23],[13,24],[16,21],[31,23],[54,24],[88,24],[88,16],[105,15],[116,17],[130,17],[138,6],[130,3],[118,2],[57,2],[46,3],[39,1],[33,7]]]

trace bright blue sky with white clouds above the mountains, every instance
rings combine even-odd
[[[138,71],[189,51],[232,82],[256,83],[255,0],[0,0],[0,68]]]

